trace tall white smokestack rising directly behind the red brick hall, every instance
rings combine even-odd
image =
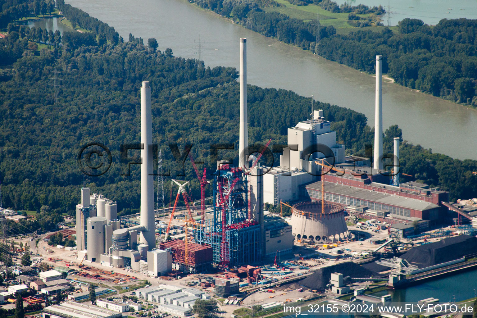
[[[376,55],[376,100],[374,109],[374,169],[383,169],[382,55]]]

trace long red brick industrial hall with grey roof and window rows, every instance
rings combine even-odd
[[[389,176],[383,175],[384,171],[379,174],[366,164],[356,167],[352,158],[346,159],[346,163],[322,175],[321,181],[302,185],[301,194],[320,200],[323,181],[326,201],[350,205],[348,209],[354,208],[358,215],[367,214],[383,221],[392,218],[397,222],[424,219],[430,223],[446,215],[447,208],[441,202],[448,201],[448,192],[418,182],[388,185],[384,182],[389,182]]]

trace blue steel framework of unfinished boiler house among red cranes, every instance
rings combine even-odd
[[[260,259],[260,226],[249,220],[247,176],[241,168],[220,165],[215,173],[212,219],[194,227],[194,242],[213,248],[213,264],[238,267]]]

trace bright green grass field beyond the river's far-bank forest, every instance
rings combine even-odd
[[[276,0],[276,1],[280,3],[282,6],[267,7],[267,8],[264,8],[264,10],[268,12],[270,11],[280,12],[280,13],[286,14],[290,18],[296,18],[303,21],[311,21],[311,20],[319,19],[322,25],[325,25],[325,26],[332,25],[336,29],[350,29],[350,31],[352,31],[353,29],[357,29],[348,24],[349,13],[332,13],[330,11],[321,9],[321,7],[314,4],[309,4],[307,6],[297,6],[297,5],[291,4],[287,0]],[[370,15],[371,15],[370,13],[358,14],[358,16],[363,18],[369,17]],[[369,27],[369,28],[374,28],[379,30],[379,27]]]

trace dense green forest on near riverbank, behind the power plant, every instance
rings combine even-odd
[[[121,175],[125,165],[120,162],[120,146],[140,142],[141,81],[151,82],[153,138],[163,153],[163,170],[170,170],[166,204],[173,191],[170,178],[192,180],[192,196],[200,195],[191,164],[186,161],[182,175],[182,162],[176,161],[168,144],[177,143],[180,152],[186,144],[193,144],[192,154],[197,162],[205,162],[209,178],[215,168],[211,144],[232,143],[237,148],[235,68],[210,68],[202,61],[175,57],[171,49],[157,50],[155,39],[148,39],[150,46],[146,46],[132,34],[127,42],[101,40],[102,32],[114,34],[109,27],[93,30],[95,37],[89,35],[84,38],[87,41],[76,44],[71,42],[76,35],[65,32],[62,45],[52,43],[50,49],[41,50],[29,45],[29,40],[38,41],[30,36],[36,36],[37,30],[20,29],[15,26],[0,40],[2,56],[12,59],[0,69],[0,181],[3,207],[38,211],[38,221],[12,224],[12,231],[54,227],[63,213],[73,214],[82,186],[117,200],[121,214],[138,211],[140,167],[132,165],[131,175]],[[373,54],[368,60],[373,63]],[[56,103],[51,80],[55,76],[62,79]],[[309,116],[310,102],[291,91],[249,85],[250,143],[264,144],[272,138],[273,144],[286,144],[287,128]],[[373,131],[362,113],[320,102],[315,107],[333,122],[332,129],[346,144],[348,154],[363,154]],[[395,136],[402,136],[401,130],[389,127],[385,151],[391,151]],[[90,142],[102,143],[112,153],[111,168],[98,177],[83,174],[77,161],[81,147]],[[129,153],[139,155],[138,151]],[[219,159],[236,154],[218,152]],[[403,172],[441,186],[451,192],[452,199],[477,195],[477,176],[472,174],[477,171],[475,160],[432,154],[404,141],[401,163]],[[203,164],[198,166],[201,169]],[[206,190],[210,193],[211,187]]]

